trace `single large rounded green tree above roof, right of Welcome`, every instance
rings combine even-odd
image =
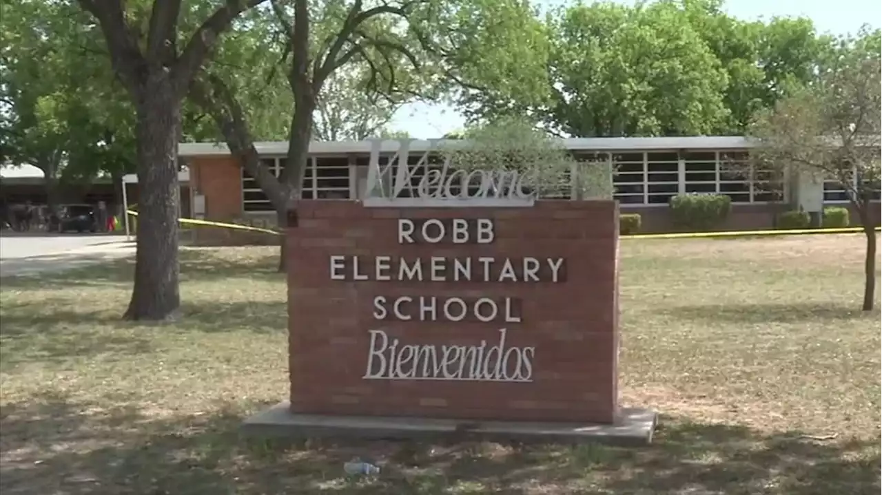
[[[691,136],[729,118],[728,75],[675,4],[576,5],[553,26],[548,123],[564,133]]]

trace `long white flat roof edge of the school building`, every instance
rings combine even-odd
[[[572,137],[563,139],[564,146],[573,151],[649,151],[649,150],[744,150],[755,144],[744,136],[690,136],[690,137]],[[460,141],[453,141],[459,143]],[[255,143],[259,155],[288,154],[287,141],[263,141]],[[313,141],[310,154],[368,154],[370,141]],[[400,142],[387,139],[381,144],[382,152],[398,151]],[[428,151],[430,141],[411,141],[411,151]],[[181,143],[178,155],[182,157],[205,157],[229,155],[223,143]]]

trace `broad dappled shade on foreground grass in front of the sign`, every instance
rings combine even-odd
[[[7,404],[0,413],[0,491],[870,495],[878,493],[882,468],[875,442],[825,443],[797,432],[672,419],[654,445],[633,449],[244,440],[237,430],[255,406],[222,403],[210,414],[156,418],[137,404],[99,408],[60,393]],[[354,455],[378,462],[381,475],[345,477],[342,463]]]

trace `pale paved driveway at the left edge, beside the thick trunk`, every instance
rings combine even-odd
[[[119,235],[0,236],[0,277],[79,268],[135,252]]]

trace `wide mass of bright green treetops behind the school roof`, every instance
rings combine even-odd
[[[454,100],[472,122],[523,115],[581,137],[740,134],[811,85],[831,40],[804,18],[745,22],[719,0],[453,4]]]

